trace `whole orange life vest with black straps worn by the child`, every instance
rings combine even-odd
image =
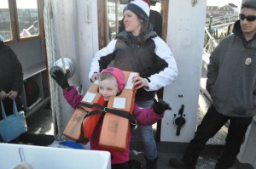
[[[106,150],[125,151],[131,124],[137,124],[131,117],[137,93],[131,81],[137,73],[123,72],[125,88],[118,96],[110,97],[107,107],[102,95],[98,93],[97,81],[90,86],[63,132],[67,138],[87,144],[104,112],[106,114],[102,121],[99,146]]]

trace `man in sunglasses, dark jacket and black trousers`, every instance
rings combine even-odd
[[[209,138],[230,121],[224,152],[215,169],[228,169],[236,161],[247,127],[256,115],[256,1],[241,3],[240,20],[233,34],[218,43],[210,56],[207,91],[212,105],[197,127],[182,159],[170,166],[195,169],[197,159]],[[237,71],[239,70],[239,71]]]

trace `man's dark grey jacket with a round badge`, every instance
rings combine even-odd
[[[239,20],[233,34],[218,43],[210,56],[207,91],[219,113],[256,115],[256,36],[247,41]]]

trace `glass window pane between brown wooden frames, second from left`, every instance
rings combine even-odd
[[[20,38],[39,35],[38,0],[16,0]]]

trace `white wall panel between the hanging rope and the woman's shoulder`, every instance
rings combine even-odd
[[[77,0],[78,52],[80,80],[84,91],[90,87],[90,62],[98,51],[98,20],[96,0]]]

